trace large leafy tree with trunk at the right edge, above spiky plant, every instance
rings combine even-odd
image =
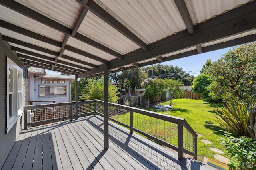
[[[246,43],[229,50],[207,69],[215,82],[214,95],[226,101],[239,100],[250,111],[248,131],[256,136],[256,43]]]

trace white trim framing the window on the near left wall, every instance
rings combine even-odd
[[[10,117],[9,115],[9,94],[10,94],[10,89],[9,89],[9,69],[13,69],[13,115]],[[6,96],[6,105],[7,105],[7,111],[6,111],[6,133],[8,133],[11,128],[15,125],[15,123],[20,119],[20,117],[23,114],[23,111],[20,109],[18,110],[18,73],[22,76],[20,79],[20,92],[21,92],[21,97],[23,97],[23,70],[20,68],[16,63],[14,63],[11,59],[7,57],[7,79],[6,79],[6,87],[7,87],[7,96]],[[20,108],[23,108],[23,100],[20,99]]]

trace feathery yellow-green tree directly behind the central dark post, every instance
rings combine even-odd
[[[110,85],[108,82],[108,101],[112,103],[117,103],[119,97],[117,87]],[[104,78],[103,77],[92,77],[87,79],[87,84],[85,85],[82,94],[79,97],[81,100],[104,100]]]

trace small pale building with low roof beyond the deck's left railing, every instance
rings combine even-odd
[[[28,68],[28,101],[29,104],[62,103],[71,101],[70,75],[49,75],[44,69]],[[40,102],[35,102],[40,101]],[[48,102],[43,102],[48,101]],[[50,102],[52,101],[52,102]],[[32,103],[33,102],[33,103]]]

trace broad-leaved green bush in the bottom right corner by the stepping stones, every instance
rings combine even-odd
[[[256,140],[248,137],[235,138],[230,133],[226,133],[222,144],[225,145],[228,153],[231,154],[232,161],[228,162],[231,170],[236,167],[240,170],[256,169]]]

